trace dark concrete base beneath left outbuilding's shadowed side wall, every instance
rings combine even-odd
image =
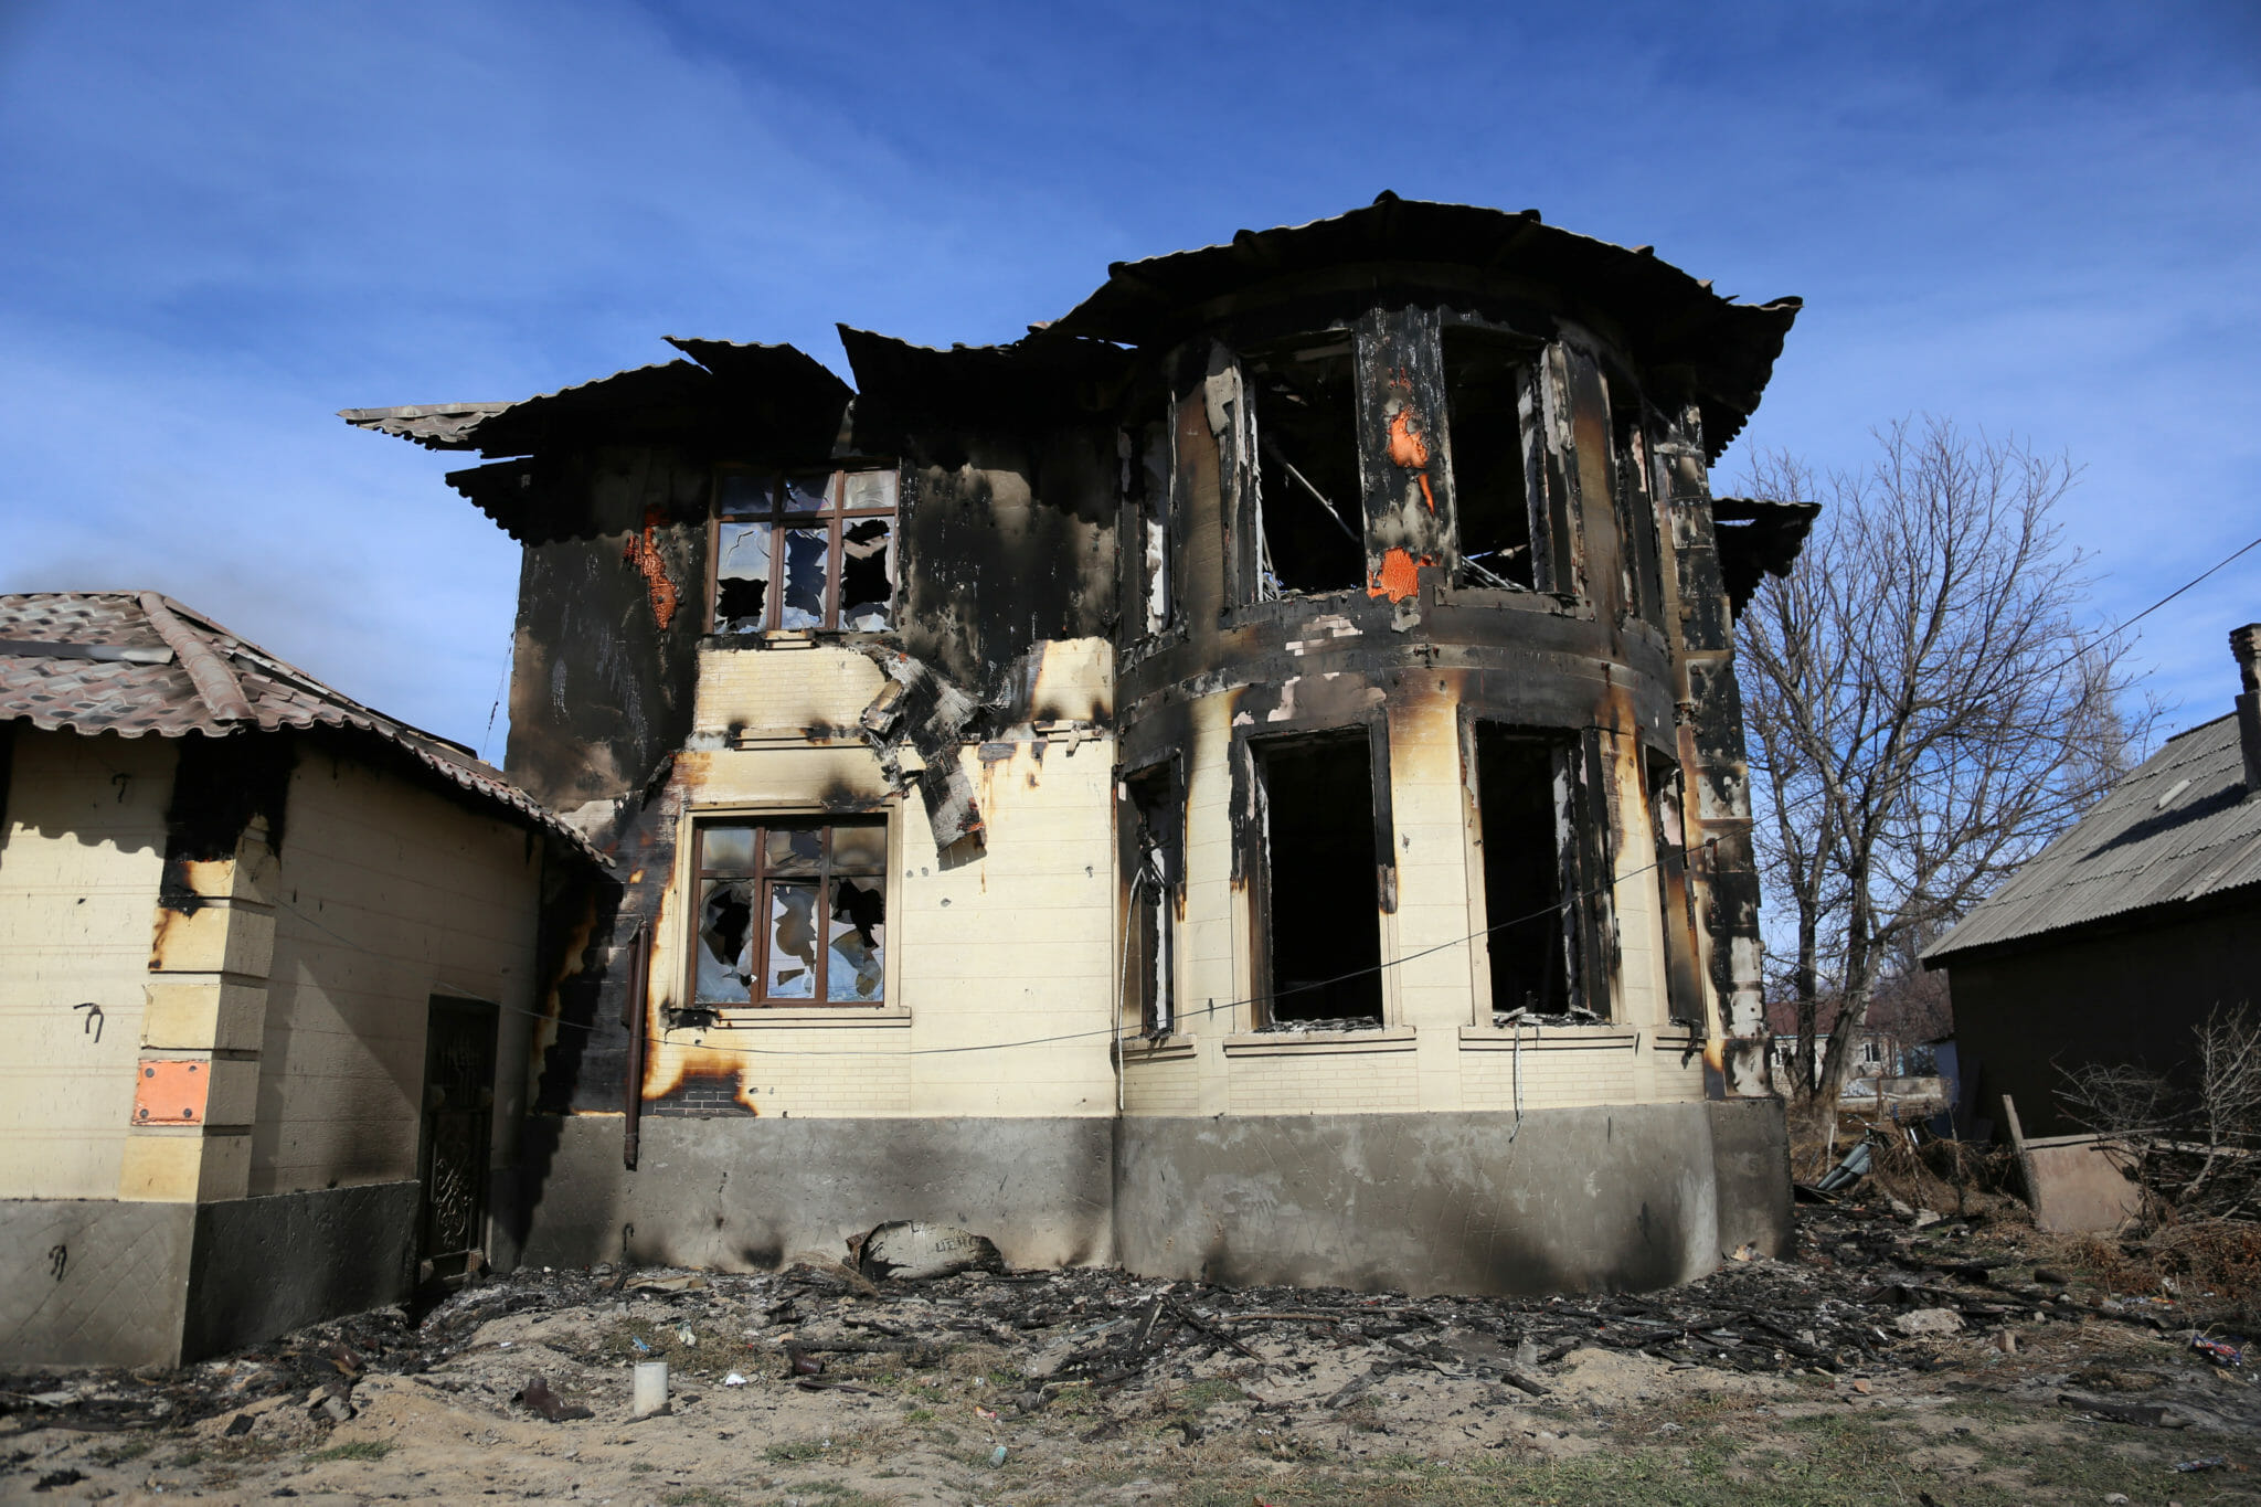
[[[402,1301],[421,1188],[378,1182],[197,1204],[181,1358]]]

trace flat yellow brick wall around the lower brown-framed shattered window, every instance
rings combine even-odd
[[[794,653],[814,660],[828,651],[739,651],[717,660],[757,662],[728,669],[744,691],[760,687],[773,673],[769,667],[791,662]],[[1054,705],[1103,696],[1099,671],[1103,664],[1074,651],[1049,655],[1042,667]],[[868,691],[859,696],[848,707],[850,723]],[[1015,737],[963,748],[959,759],[986,822],[984,856],[959,868],[941,865],[925,804],[918,795],[893,798],[864,746],[724,748],[681,761],[683,840],[653,931],[647,1103],[665,1109],[667,1096],[692,1075],[726,1075],[735,1080],[735,1098],[755,1114],[1115,1112],[1108,1060],[1119,944],[1115,743],[1074,734]],[[880,802],[891,818],[886,1003],[742,1010],[717,1026],[669,1030],[665,1005],[681,1003],[690,983],[692,822],[766,811],[798,816],[825,800]],[[981,1051],[959,1051],[968,1046]]]

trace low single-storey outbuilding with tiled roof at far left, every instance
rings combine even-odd
[[[0,1362],[194,1358],[491,1249],[588,865],[174,601],[0,596]]]

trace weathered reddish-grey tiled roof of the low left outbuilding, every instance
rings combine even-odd
[[[0,596],[0,721],[129,739],[339,728],[389,743],[500,813],[604,861],[461,743],[373,712],[156,592]]]

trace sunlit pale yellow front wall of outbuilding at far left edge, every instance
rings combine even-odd
[[[118,1197],[174,750],[161,737],[14,734],[0,813],[0,1197]],[[79,1003],[102,1005],[99,1039]]]

